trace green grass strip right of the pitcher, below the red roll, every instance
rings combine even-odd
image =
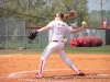
[[[76,48],[66,49],[66,52],[72,52],[72,54],[108,54],[108,55],[110,55],[110,46],[76,47]]]

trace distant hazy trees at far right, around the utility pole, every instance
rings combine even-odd
[[[89,12],[89,26],[101,27],[102,19],[108,21],[108,26],[110,26],[110,10],[103,10],[102,15],[101,11],[92,10]]]

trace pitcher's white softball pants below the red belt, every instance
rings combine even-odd
[[[63,59],[63,61],[72,68],[74,71],[78,71],[75,65],[70,61],[70,59],[66,56],[66,52],[64,50],[64,43],[58,42],[51,42],[47,47],[44,49],[42,57],[41,57],[41,65],[40,65],[40,71],[38,74],[43,74],[43,70],[46,63],[47,57],[53,52],[57,51],[59,57]]]

